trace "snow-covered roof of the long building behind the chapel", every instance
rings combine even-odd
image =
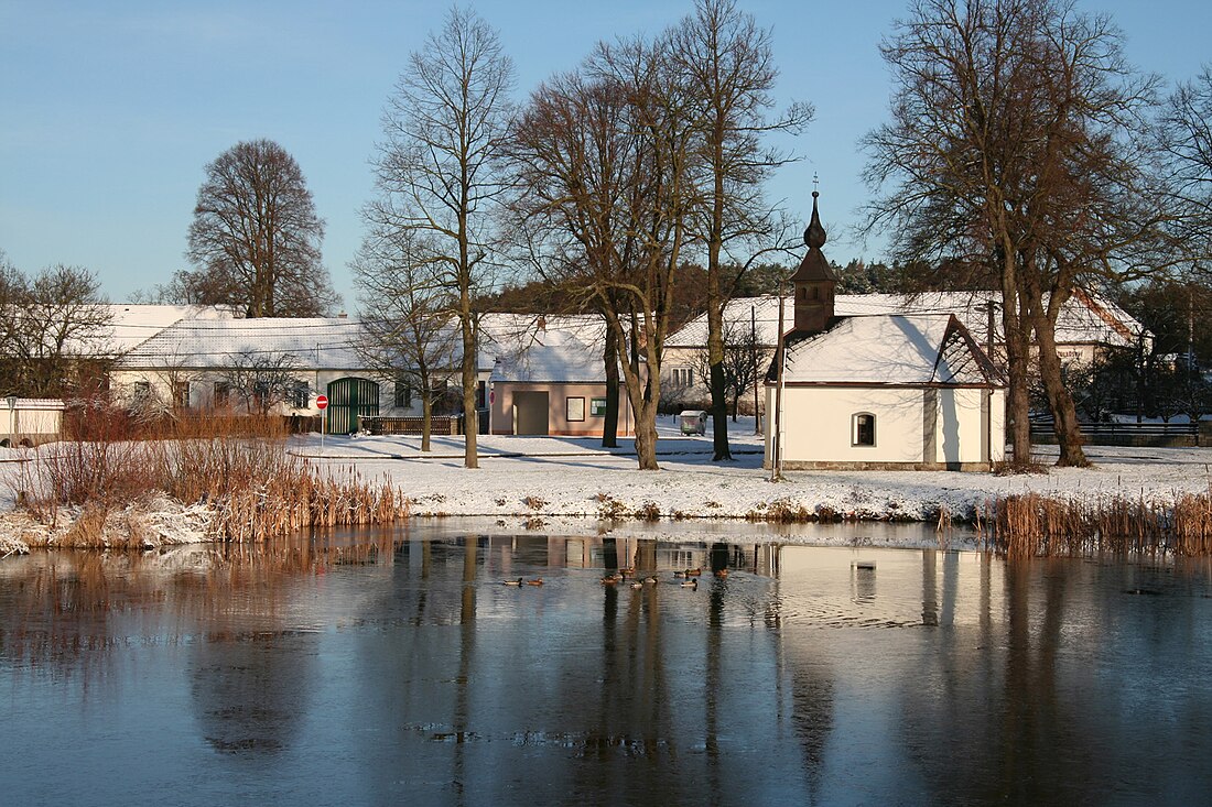
[[[750,317],[756,317],[759,344],[773,345],[778,340],[777,297],[741,297],[730,301],[724,309],[724,321],[734,327],[748,328]],[[837,294],[834,313],[837,316],[862,316],[871,314],[954,314],[982,344],[989,340],[989,302],[1001,304],[997,292],[927,292],[916,297],[908,294]],[[784,328],[790,330],[794,310],[790,298],[784,298]],[[1122,308],[1108,299],[1079,292],[1065,302],[1057,319],[1057,343],[1105,344],[1131,347],[1144,327]],[[994,339],[1001,342],[1001,315],[994,315]],[[702,314],[671,334],[665,345],[670,348],[702,348],[707,344],[707,315]]]

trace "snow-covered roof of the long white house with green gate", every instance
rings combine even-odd
[[[182,320],[131,350],[127,368],[230,367],[240,356],[290,356],[313,368],[365,362],[356,345],[362,328],[345,317]]]

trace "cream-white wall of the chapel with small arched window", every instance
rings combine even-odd
[[[784,387],[782,464],[796,468],[985,469],[1005,451],[1001,390]],[[766,388],[767,412],[774,387]],[[875,416],[875,445],[852,445],[858,413]],[[772,457],[767,420],[765,465]]]

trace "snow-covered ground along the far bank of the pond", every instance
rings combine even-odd
[[[939,514],[970,519],[976,508],[1016,493],[1097,500],[1122,497],[1165,504],[1212,488],[1212,448],[1091,446],[1087,469],[995,476],[951,471],[788,471],[772,482],[761,467],[753,420],[732,424],[732,462],[711,462],[711,437],[682,436],[662,418],[661,471],[640,471],[630,439],[607,451],[599,439],[480,435],[480,468],[463,468],[463,439],[319,435],[293,437],[291,450],[321,473],[389,480],[417,516],[479,516],[486,528],[595,531],[621,517],[630,531],[654,536],[716,533],[730,520],[772,509],[831,513],[864,520],[919,520]],[[1037,447],[1051,464],[1056,448]],[[16,451],[0,460],[17,459]],[[17,462],[0,462],[0,510],[12,506]],[[654,522],[648,519],[657,519]],[[629,521],[628,521],[629,520]],[[767,528],[767,527],[764,527]],[[747,527],[747,530],[751,530]],[[5,530],[0,528],[0,555]],[[897,543],[897,538],[890,538]]]

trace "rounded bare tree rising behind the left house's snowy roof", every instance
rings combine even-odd
[[[189,227],[194,271],[162,290],[247,316],[316,316],[338,304],[320,262],[324,222],[298,162],[273,141],[233,145],[206,166]]]

